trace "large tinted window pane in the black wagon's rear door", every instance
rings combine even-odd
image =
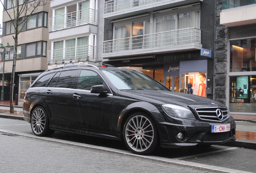
[[[57,88],[72,88],[72,82],[78,70],[62,71],[56,84]]]

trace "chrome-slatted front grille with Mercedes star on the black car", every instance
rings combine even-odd
[[[202,121],[222,122],[229,117],[225,107],[196,108],[196,113]]]

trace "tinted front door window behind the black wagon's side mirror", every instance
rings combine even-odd
[[[79,76],[77,89],[91,90],[92,86],[99,84],[103,84],[103,80],[96,72],[82,70]]]

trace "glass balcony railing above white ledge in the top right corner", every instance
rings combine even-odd
[[[222,10],[256,4],[256,0],[222,0]]]

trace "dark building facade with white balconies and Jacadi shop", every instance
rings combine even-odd
[[[214,99],[213,0],[105,0],[102,61]],[[201,53],[206,52],[207,55]]]

